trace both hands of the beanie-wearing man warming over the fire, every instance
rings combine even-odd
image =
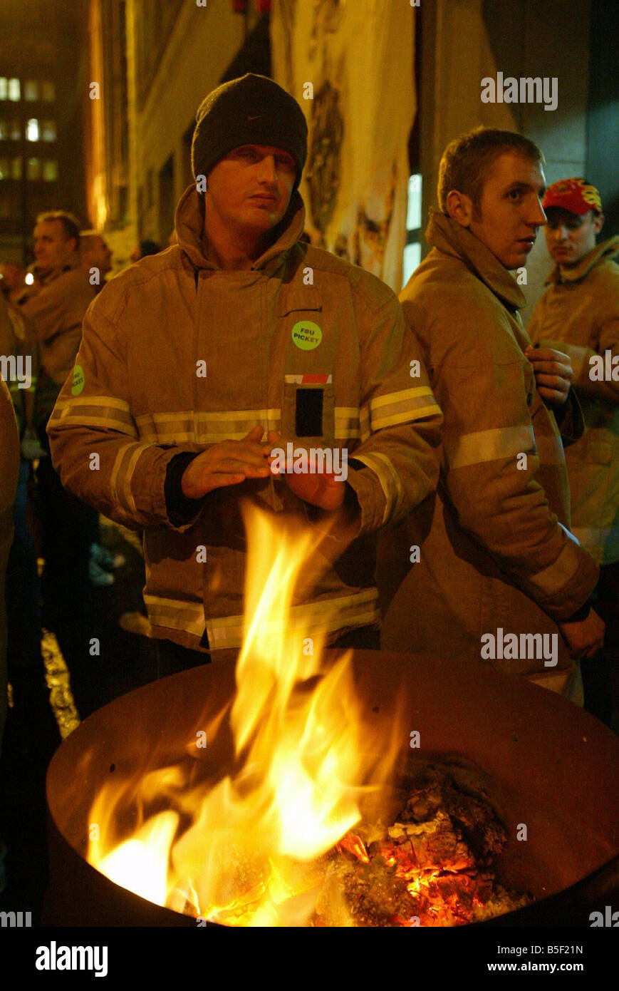
[[[239,485],[246,479],[268,478],[274,460],[271,450],[281,444],[281,436],[269,430],[267,443],[263,443],[262,434],[263,428],[257,424],[243,440],[224,440],[202,451],[183,473],[183,495],[201,498],[214,489]],[[337,482],[333,473],[286,472],[281,478],[290,492],[321,509],[334,511],[344,505],[347,485]]]

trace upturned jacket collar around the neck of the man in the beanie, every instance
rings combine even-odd
[[[194,269],[216,270],[217,266],[204,257],[204,224],[200,195],[195,184],[187,186],[176,207],[174,228],[178,245]],[[301,237],[304,226],[305,206],[297,189],[290,198],[284,217],[275,229],[275,241],[260,255],[251,271],[260,269],[266,275],[272,275],[285,262],[288,252]]]

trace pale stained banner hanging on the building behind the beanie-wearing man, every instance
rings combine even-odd
[[[274,0],[273,78],[309,129],[301,194],[312,244],[401,288],[414,13],[405,0]]]

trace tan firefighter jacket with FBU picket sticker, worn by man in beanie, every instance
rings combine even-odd
[[[176,527],[164,481],[179,451],[241,439],[260,423],[281,434],[284,449],[337,448],[356,459],[348,482],[360,535],[311,599],[295,604],[331,638],[377,623],[373,531],[436,486],[442,417],[397,297],[375,276],[299,242],[303,224],[294,193],[282,233],[253,268],[222,271],[203,253],[190,186],[176,211],[178,245],[112,279],[90,306],[73,381],[53,411],[62,483],[145,529],[155,636],[187,647],[198,648],[205,630],[216,651],[241,643],[241,496],[308,520],[313,508],[270,477],[210,493],[197,517]]]

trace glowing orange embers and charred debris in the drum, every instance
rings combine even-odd
[[[315,925],[461,926],[531,902],[495,881],[507,837],[478,787],[445,765],[409,775],[392,826],[361,824],[338,844]]]

